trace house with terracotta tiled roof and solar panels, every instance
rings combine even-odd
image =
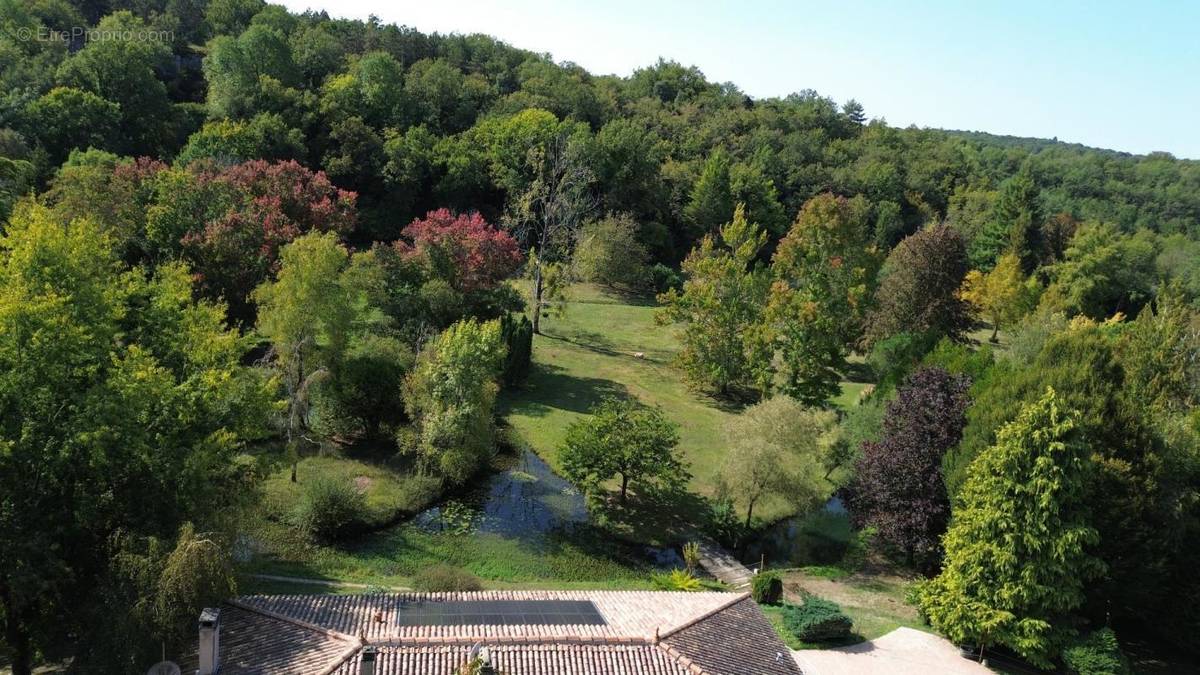
[[[200,616],[199,675],[799,675],[746,593],[246,596]]]

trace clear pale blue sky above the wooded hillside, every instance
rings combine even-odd
[[[274,0],[280,1],[280,0]],[[1200,2],[283,0],[485,32],[593,73],[659,56],[756,96],[816,89],[889,124],[1200,159]],[[904,6],[908,5],[908,6]]]

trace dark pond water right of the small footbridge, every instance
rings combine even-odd
[[[834,565],[850,543],[850,514],[840,497],[830,497],[817,512],[793,515],[768,527],[740,551],[742,561],[768,567]]]

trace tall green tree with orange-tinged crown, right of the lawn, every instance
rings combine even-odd
[[[804,204],[772,259],[767,323],[779,351],[782,390],[822,405],[840,390],[878,268],[869,243],[870,207],[821,195]]]

